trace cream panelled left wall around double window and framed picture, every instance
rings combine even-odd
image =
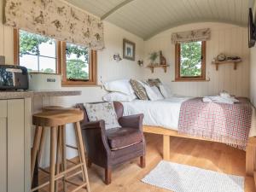
[[[14,62],[14,41],[13,41],[13,29],[9,26],[3,26],[3,1],[0,1],[0,55],[5,55],[6,63],[13,64]],[[140,79],[142,74],[142,68],[137,65],[137,60],[143,58],[143,39],[126,32],[125,30],[114,26],[108,22],[104,22],[104,38],[105,47],[102,51],[98,51],[98,84],[101,82],[123,79],[123,78],[134,78]],[[113,61],[113,54],[119,53],[122,55],[123,52],[123,38],[130,39],[136,44],[136,61]],[[38,97],[33,100],[34,112],[40,111],[43,106],[48,105],[61,105],[65,107],[73,106],[78,102],[97,102],[102,101],[102,96],[106,94],[102,90],[101,86],[90,86],[90,87],[67,87],[63,90],[81,90],[82,96],[63,96],[63,97],[51,97],[44,99]],[[42,166],[49,165],[49,158],[46,151],[49,153],[49,135],[47,138],[46,146],[44,148],[45,158],[42,162]],[[67,143],[74,144],[73,127],[67,126]],[[68,151],[68,157],[73,157],[76,153],[72,150]]]

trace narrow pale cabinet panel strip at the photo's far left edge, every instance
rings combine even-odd
[[[7,101],[0,101],[0,191],[7,191]]]

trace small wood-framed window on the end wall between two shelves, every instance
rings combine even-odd
[[[175,45],[175,80],[206,80],[206,42]]]

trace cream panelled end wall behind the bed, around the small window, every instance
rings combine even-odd
[[[172,32],[183,32],[192,29],[211,28],[212,38],[207,41],[207,78],[209,82],[172,82],[175,78],[175,46],[171,42]],[[195,23],[178,26],[150,38],[145,42],[145,66],[149,63],[148,54],[152,51],[163,51],[168,67],[167,73],[157,68],[151,73],[144,68],[144,79],[160,78],[164,83],[171,84],[175,94],[183,96],[216,95],[227,90],[236,96],[249,96],[249,49],[247,48],[247,28],[223,23]],[[219,66],[218,71],[211,64],[212,58],[219,53],[241,56],[242,62],[237,70],[233,65]]]

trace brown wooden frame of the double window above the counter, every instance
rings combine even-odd
[[[89,80],[68,80],[66,62],[66,42],[56,40],[56,73],[61,74],[61,86],[93,86],[97,85],[97,51],[90,49]],[[14,64],[20,65],[20,35],[19,29],[14,29]]]

